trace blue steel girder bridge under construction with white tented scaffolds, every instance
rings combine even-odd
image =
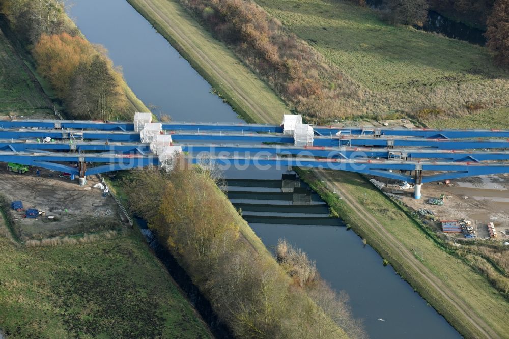
[[[280,126],[134,121],[0,120],[0,162],[89,175],[148,165],[171,168],[176,153],[229,166],[330,168],[414,185],[509,173],[509,131],[310,126],[298,115]]]

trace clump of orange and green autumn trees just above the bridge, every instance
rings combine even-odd
[[[43,34],[33,51],[37,71],[78,119],[111,120],[127,106],[122,77],[87,40],[67,33]]]

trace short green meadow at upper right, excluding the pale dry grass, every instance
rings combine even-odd
[[[374,91],[507,77],[486,48],[381,22],[346,1],[257,0],[271,15]]]

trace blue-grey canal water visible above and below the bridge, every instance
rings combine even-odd
[[[125,0],[73,4],[70,14],[83,34],[109,50],[134,93],[157,106],[156,113],[175,121],[240,121]],[[460,337],[392,267],[382,265],[378,253],[341,220],[331,220],[324,202],[291,175],[288,168],[224,172],[230,199],[266,246],[273,248],[279,238],[286,238],[307,252],[321,276],[348,293],[354,317],[363,319],[372,338]]]

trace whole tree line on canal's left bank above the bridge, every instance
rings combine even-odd
[[[132,118],[122,74],[103,47],[84,39],[65,13],[63,0],[4,0],[0,11],[70,118]]]

